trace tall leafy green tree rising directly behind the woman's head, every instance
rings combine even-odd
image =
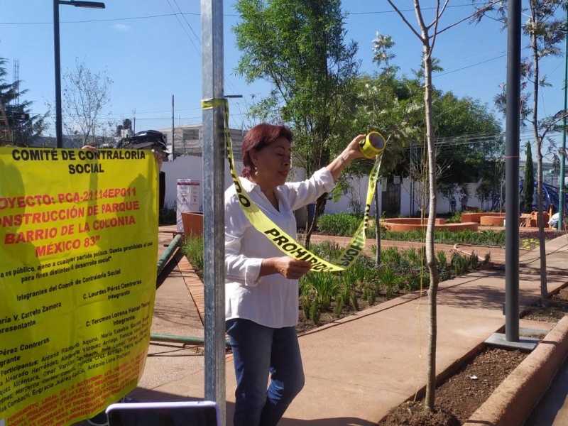
[[[263,79],[272,85],[251,114],[290,126],[295,158],[308,175],[354,136],[346,129],[351,129],[347,119],[359,63],[356,43],[344,42],[340,6],[339,0],[237,0],[234,5],[241,15],[234,27],[241,50],[236,72],[247,82]],[[317,200],[316,212],[325,202],[325,195]]]

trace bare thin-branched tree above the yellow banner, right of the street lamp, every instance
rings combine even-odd
[[[75,70],[63,75],[63,124],[68,134],[76,136],[75,148],[87,145],[96,136],[102,109],[111,99],[112,80],[106,72],[91,72],[75,60]],[[104,129],[107,131],[107,129]]]

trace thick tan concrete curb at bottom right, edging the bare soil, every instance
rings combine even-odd
[[[568,316],[564,316],[464,425],[523,425],[567,354]]]

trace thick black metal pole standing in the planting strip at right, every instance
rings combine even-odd
[[[520,2],[507,11],[507,113],[505,132],[505,338],[519,341],[519,136]]]

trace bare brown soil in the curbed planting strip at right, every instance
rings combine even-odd
[[[557,322],[568,315],[568,288],[551,295],[547,307],[532,306],[527,320]],[[403,403],[383,417],[381,426],[459,426],[493,393],[527,352],[486,348],[436,388],[435,411],[425,413],[423,400]]]

